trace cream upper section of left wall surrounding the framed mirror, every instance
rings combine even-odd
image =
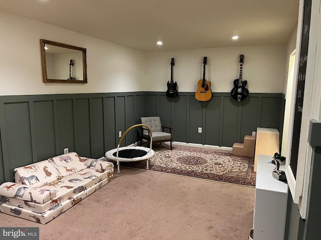
[[[143,51],[4,11],[0,32],[0,95],[143,90]],[[88,83],[44,83],[41,38],[87,48]]]

